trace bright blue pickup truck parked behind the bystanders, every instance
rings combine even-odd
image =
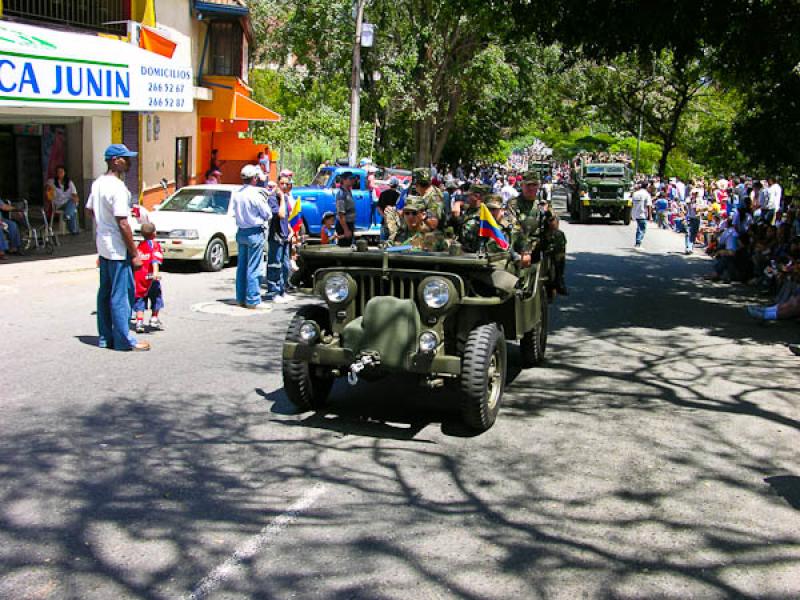
[[[312,235],[319,235],[322,215],[328,211],[336,212],[339,178],[345,171],[350,171],[355,178],[353,200],[356,202],[356,235],[379,236],[381,214],[373,202],[372,193],[367,189],[367,172],[364,169],[350,167],[324,167],[309,185],[292,190],[292,196],[302,202],[306,231]]]

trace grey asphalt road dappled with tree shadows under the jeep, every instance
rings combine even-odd
[[[95,348],[94,257],[0,266],[0,597],[797,598],[796,323],[650,229],[563,224],[548,360],[470,436],[391,380],[295,414],[292,308],[172,268],[153,351]]]

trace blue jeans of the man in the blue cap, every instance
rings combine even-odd
[[[130,350],[136,338],[130,331],[135,292],[130,260],[100,257],[100,289],[97,290],[97,332],[101,348]]]

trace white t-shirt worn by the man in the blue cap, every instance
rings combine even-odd
[[[94,213],[97,253],[108,260],[125,260],[128,249],[116,217],[130,216],[131,193],[115,175],[102,175],[92,184],[86,208]]]

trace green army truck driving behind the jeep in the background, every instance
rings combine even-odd
[[[588,223],[593,214],[631,222],[633,174],[622,163],[588,163],[575,168],[567,209],[573,221]]]

